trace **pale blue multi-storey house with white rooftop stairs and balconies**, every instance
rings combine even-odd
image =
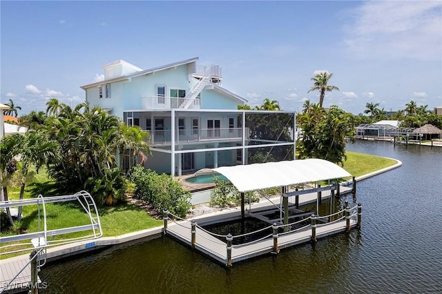
[[[258,112],[237,110],[247,100],[222,88],[221,68],[200,66],[197,61],[195,57],[142,70],[118,60],[102,67],[104,81],[81,88],[91,106],[149,133],[152,157],[145,167],[158,173],[182,175],[200,168],[247,164],[248,148],[294,146],[293,140],[250,139],[245,119]],[[133,164],[126,154],[123,167]]]

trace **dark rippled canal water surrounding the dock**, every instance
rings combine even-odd
[[[403,166],[358,183],[360,231],[224,268],[161,237],[49,264],[41,293],[442,293],[442,148],[356,141]]]

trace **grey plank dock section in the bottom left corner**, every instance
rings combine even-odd
[[[21,293],[26,292],[31,287],[29,257],[19,256],[0,260],[0,293]],[[21,271],[21,269],[23,271]],[[21,271],[21,273],[19,273]],[[19,275],[12,280],[15,275]],[[38,278],[38,283],[40,283]],[[10,283],[10,284],[9,284]],[[9,286],[6,286],[8,285]],[[3,291],[1,289],[5,287]]]

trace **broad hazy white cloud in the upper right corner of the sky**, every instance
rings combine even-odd
[[[364,2],[344,43],[358,58],[441,60],[441,9],[441,1]]]

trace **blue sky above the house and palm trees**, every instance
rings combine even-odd
[[[441,1],[1,1],[1,102],[46,110],[84,101],[101,67],[192,57],[222,67],[231,92],[301,110],[315,72],[334,75],[324,106],[358,114],[442,106]]]

